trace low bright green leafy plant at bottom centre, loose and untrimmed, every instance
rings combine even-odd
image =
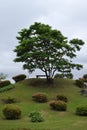
[[[31,112],[29,114],[29,117],[31,118],[31,122],[42,122],[44,121],[43,117],[39,112]]]

